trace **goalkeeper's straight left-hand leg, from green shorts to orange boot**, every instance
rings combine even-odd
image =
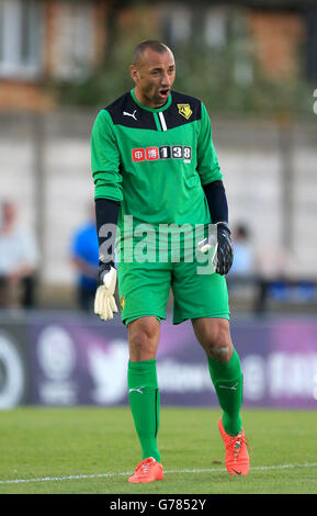
[[[117,271],[121,316],[128,333],[129,404],[143,450],[143,460],[128,481],[152,482],[163,478],[157,447],[160,400],[156,354],[171,270],[169,263],[120,262]]]

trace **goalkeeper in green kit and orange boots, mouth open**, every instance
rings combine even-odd
[[[105,321],[117,312],[114,291],[118,280],[122,321],[128,334],[129,405],[143,453],[128,481],[163,479],[157,444],[160,397],[156,356],[170,289],[173,324],[191,319],[196,340],[206,352],[222,407],[218,427],[227,471],[244,475],[249,471],[249,457],[240,416],[242,372],[230,338],[225,280],[233,246],[210,117],[201,100],[171,89],[174,58],[160,42],[140,43],[129,71],[134,89],[98,113],[91,136],[100,246],[95,313]],[[144,260],[136,253],[145,225],[154,228],[147,244],[155,259]],[[158,257],[159,231],[171,225],[192,227],[195,242],[196,228],[204,228],[201,250],[194,244],[191,260],[185,259],[184,237],[180,238],[179,260],[172,259],[174,249],[168,238],[163,238],[168,258]],[[216,227],[217,233],[217,246],[210,251],[208,227]],[[208,255],[212,250],[215,269],[199,273],[199,253]]]

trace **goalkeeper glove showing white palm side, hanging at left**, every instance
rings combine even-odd
[[[116,283],[116,270],[111,263],[99,262],[97,291],[94,298],[94,313],[102,321],[112,319],[114,312],[117,312],[114,300]]]

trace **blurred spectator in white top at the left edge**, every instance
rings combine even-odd
[[[0,221],[0,307],[34,306],[38,248],[32,232],[18,224],[12,201],[1,204]]]

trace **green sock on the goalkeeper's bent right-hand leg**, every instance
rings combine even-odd
[[[240,408],[244,384],[239,356],[234,349],[227,362],[218,362],[208,357],[208,367],[219,405],[224,411],[225,431],[230,436],[236,436],[241,430]]]

